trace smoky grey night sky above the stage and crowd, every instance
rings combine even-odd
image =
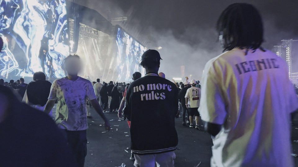
[[[297,0],[76,0],[103,16],[127,16],[120,24],[148,48],[162,46],[167,77],[185,75],[200,79],[205,63],[221,53],[215,23],[220,13],[235,2],[255,5],[264,21],[264,47],[273,49],[282,39],[298,39]],[[297,56],[298,57],[298,56]],[[169,63],[168,63],[169,62]]]

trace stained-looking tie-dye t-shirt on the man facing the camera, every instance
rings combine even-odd
[[[61,129],[81,131],[88,128],[86,99],[95,99],[91,82],[79,77],[56,79],[51,87],[49,100],[57,99],[55,122]]]

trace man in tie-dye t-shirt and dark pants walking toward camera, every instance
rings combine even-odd
[[[80,57],[69,55],[64,64],[68,75],[53,82],[44,112],[49,113],[55,101],[58,101],[55,122],[65,133],[76,164],[83,167],[87,155],[87,98],[105,121],[106,130],[110,129],[110,124],[96,99],[92,83],[78,76],[81,69]]]

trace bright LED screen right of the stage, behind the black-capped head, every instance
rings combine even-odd
[[[144,75],[144,70],[139,66],[142,54],[146,51],[138,41],[134,40],[129,34],[118,28],[116,43],[118,81],[131,81],[134,72],[138,71]]]

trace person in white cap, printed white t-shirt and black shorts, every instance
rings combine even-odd
[[[185,104],[186,104],[186,108],[189,109],[189,114],[190,114],[189,127],[193,128],[192,117],[195,116],[196,129],[200,130],[200,127],[199,127],[200,114],[198,112],[198,108],[200,106],[201,89],[196,87],[196,80],[194,79],[190,82],[190,84],[192,85],[192,87],[187,89],[185,94]]]

